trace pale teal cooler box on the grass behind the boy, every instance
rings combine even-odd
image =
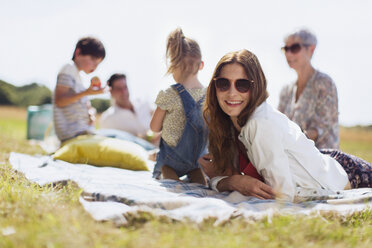
[[[53,127],[53,106],[28,106],[27,139],[44,140],[47,130]]]

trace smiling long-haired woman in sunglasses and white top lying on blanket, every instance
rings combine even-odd
[[[266,103],[266,87],[253,53],[228,53],[218,62],[203,113],[213,162],[199,160],[213,189],[294,200],[301,189],[342,190],[350,181],[371,187],[369,163],[351,159],[341,166],[332,154],[320,153],[296,123]],[[359,172],[362,180],[354,180]]]

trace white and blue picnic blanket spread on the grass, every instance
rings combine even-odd
[[[348,215],[372,206],[370,188],[322,194],[318,191],[310,201],[295,204],[260,200],[238,192],[218,193],[200,184],[155,180],[149,171],[71,164],[50,156],[11,153],[9,162],[14,170],[41,186],[77,183],[83,189],[80,202],[85,210],[96,220],[113,220],[118,225],[126,224],[125,216],[140,212],[196,223],[215,218],[218,224],[239,216],[260,219],[273,214],[309,215],[324,211]]]

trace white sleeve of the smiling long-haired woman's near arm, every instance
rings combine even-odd
[[[265,182],[273,187],[278,198],[293,201],[295,185],[283,146],[283,133],[275,123],[266,119],[253,119],[242,132],[248,157]]]

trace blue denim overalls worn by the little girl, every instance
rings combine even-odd
[[[163,139],[160,140],[160,151],[156,156],[153,177],[159,179],[161,167],[167,165],[175,170],[179,177],[200,168],[198,158],[206,153],[208,129],[204,123],[201,105],[205,97],[195,102],[182,84],[174,84],[182,100],[186,116],[185,128],[175,147],[170,147]]]

